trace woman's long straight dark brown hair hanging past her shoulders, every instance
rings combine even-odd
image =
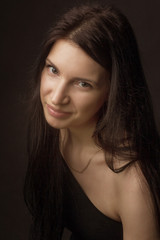
[[[93,137],[110,156],[106,154],[106,163],[113,171],[123,171],[138,162],[160,226],[160,140],[133,30],[126,17],[112,6],[81,6],[71,9],[50,29],[36,62],[24,187],[33,216],[32,239],[60,239],[63,228],[64,166],[59,130],[46,123],[39,93],[45,59],[62,38],[75,42],[111,73],[109,98],[100,110]],[[127,156],[130,161],[115,169],[115,155]]]

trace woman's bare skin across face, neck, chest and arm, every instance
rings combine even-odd
[[[159,240],[150,193],[138,166],[114,173],[92,138],[109,88],[110,74],[79,46],[64,39],[54,44],[42,72],[40,96],[47,122],[60,129],[64,159],[81,170],[92,157],[83,174],[71,171],[97,209],[122,222],[124,240]]]

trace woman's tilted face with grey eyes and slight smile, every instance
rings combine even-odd
[[[47,122],[54,128],[96,124],[107,100],[109,73],[79,46],[58,40],[46,58],[40,96]]]

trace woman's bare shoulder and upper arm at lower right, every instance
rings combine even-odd
[[[116,185],[124,240],[159,240],[152,197],[138,165],[119,173]]]

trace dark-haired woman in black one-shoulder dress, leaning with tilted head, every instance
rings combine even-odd
[[[25,199],[32,238],[160,239],[159,136],[136,40],[111,6],[73,8],[37,61]]]

